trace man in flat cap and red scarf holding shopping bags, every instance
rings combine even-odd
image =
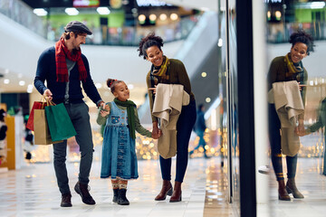
[[[93,143],[89,108],[82,100],[82,89],[98,107],[102,106],[104,102],[91,80],[89,62],[80,48],[91,31],[78,21],[70,22],[64,29],[61,39],[55,43],[55,46],[41,54],[37,63],[34,86],[43,94],[43,97],[53,100],[56,104],[64,103],[67,109],[77,132],[76,141],[81,151],[79,181],[74,186],[74,190],[81,195],[83,203],[92,205],[95,204],[95,201],[89,193],[88,184]],[[47,82],[46,86],[44,80]],[[54,170],[59,190],[62,193],[61,206],[71,207],[72,194],[65,165],[66,150],[67,140],[53,144]]]

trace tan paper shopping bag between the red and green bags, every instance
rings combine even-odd
[[[62,141],[53,142],[49,127],[45,118],[44,109],[34,109],[34,144],[51,145]]]

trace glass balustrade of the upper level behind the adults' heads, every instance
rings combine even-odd
[[[49,41],[59,40],[63,33],[63,24],[60,28],[54,29],[51,22],[34,14],[33,9],[20,0],[1,0],[0,13]],[[138,46],[139,40],[150,32],[157,33],[165,42],[183,40],[187,38],[199,18],[200,15],[190,15],[171,24],[149,27],[139,25],[117,28],[105,25],[89,26],[93,34],[86,39],[86,42],[95,45]]]

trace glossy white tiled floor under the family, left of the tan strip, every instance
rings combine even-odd
[[[206,168],[214,159],[191,159],[183,184],[181,203],[156,202],[161,178],[158,161],[139,161],[139,179],[130,181],[129,206],[111,203],[109,180],[100,175],[100,162],[91,169],[91,194],[96,205],[83,204],[72,192],[72,207],[60,207],[61,194],[52,164],[28,165],[20,170],[0,174],[1,216],[203,216],[206,194]],[[78,164],[69,163],[71,189],[77,182]],[[174,166],[174,165],[173,165]],[[174,177],[174,175],[173,175]]]

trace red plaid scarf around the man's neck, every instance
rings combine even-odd
[[[73,55],[69,52],[68,48],[64,43],[64,39],[61,38],[55,43],[55,65],[56,65],[56,76],[57,82],[68,82],[68,69],[65,58],[71,61],[77,61],[78,71],[80,72],[79,79],[86,81],[87,71],[82,61],[82,51],[77,50]]]

